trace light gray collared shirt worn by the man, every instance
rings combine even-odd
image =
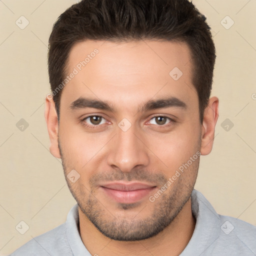
[[[180,256],[256,255],[256,226],[217,214],[208,200],[195,189],[191,205],[196,218],[195,229]],[[10,255],[90,256],[79,235],[78,223],[76,204],[68,212],[65,223],[36,236]]]

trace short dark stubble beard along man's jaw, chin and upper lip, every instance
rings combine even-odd
[[[137,215],[130,216],[129,209],[134,210],[137,203],[117,203],[118,210],[121,209],[122,211],[127,212],[127,217],[124,218],[124,214],[121,216],[113,214],[103,206],[103,204],[96,198],[96,189],[91,187],[88,189],[80,183],[76,183],[76,185],[74,185],[68,180],[66,174],[71,168],[66,164],[65,158],[63,157],[63,153],[60,149],[60,144],[59,150],[67,185],[84,216],[103,235],[118,241],[147,239],[155,236],[165,227],[169,226],[190,198],[199,167],[198,157],[198,159],[189,166],[189,169],[185,170],[186,173],[182,173],[177,177],[177,180],[175,180],[170,187],[155,199],[154,202],[150,202],[148,200],[147,203],[149,203],[150,206],[151,203],[154,203],[154,208],[150,216],[141,218],[139,211]],[[187,175],[188,172],[189,175]],[[110,176],[112,180],[143,180],[145,176],[147,176],[147,180],[149,178],[148,172],[144,170],[139,170],[134,173],[130,172],[128,174],[118,171],[114,172],[113,175]],[[93,180],[95,181],[99,178],[100,176],[94,179],[92,177],[90,184],[93,184]],[[161,173],[153,173],[151,179],[155,181],[157,180],[158,183],[160,181],[162,185],[164,181],[166,183],[168,180],[167,177]],[[141,212],[143,212],[143,209]]]

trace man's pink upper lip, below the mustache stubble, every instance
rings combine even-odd
[[[102,184],[100,186],[110,188],[110,189],[120,190],[120,191],[133,191],[137,189],[146,189],[146,188],[154,187],[154,185],[141,183],[141,182],[129,182],[129,183],[111,182],[111,183]]]

